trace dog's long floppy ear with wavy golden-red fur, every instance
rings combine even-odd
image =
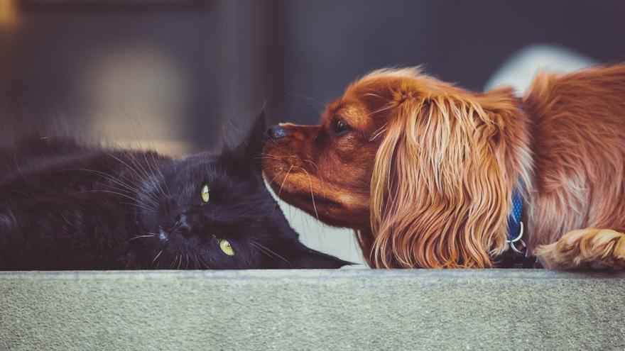
[[[374,266],[489,267],[503,252],[515,101],[439,94],[391,111],[371,179]]]

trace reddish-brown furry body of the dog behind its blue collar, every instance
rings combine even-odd
[[[578,228],[625,229],[625,65],[539,74],[523,99],[533,126],[533,245]]]

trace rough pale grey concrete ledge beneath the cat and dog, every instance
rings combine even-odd
[[[2,272],[0,350],[622,350],[625,275]]]

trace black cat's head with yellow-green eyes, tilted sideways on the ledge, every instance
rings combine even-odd
[[[264,117],[239,146],[159,167],[143,184],[134,240],[153,268],[339,268],[344,262],[305,247],[261,175]],[[156,203],[153,204],[153,203]]]

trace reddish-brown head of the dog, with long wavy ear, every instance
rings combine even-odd
[[[473,94],[383,69],[320,125],[270,128],[263,169],[288,203],[369,231],[375,267],[487,267],[506,245],[512,187],[528,181],[517,105],[511,89]]]

